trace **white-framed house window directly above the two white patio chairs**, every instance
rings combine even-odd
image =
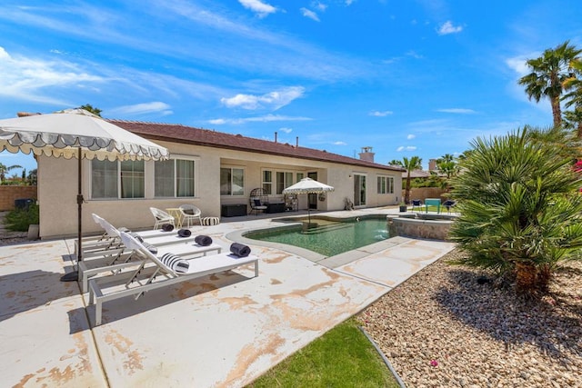
[[[196,164],[193,160],[170,159],[154,164],[156,197],[195,196]]]

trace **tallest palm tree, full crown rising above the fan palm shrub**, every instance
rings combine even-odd
[[[542,97],[549,99],[555,126],[562,123],[560,96],[564,90],[563,83],[570,77],[571,64],[579,61],[580,53],[582,50],[569,45],[569,41],[554,49],[547,49],[539,58],[527,60],[532,72],[519,79],[519,85],[526,86],[530,100],[533,98],[539,103]]]

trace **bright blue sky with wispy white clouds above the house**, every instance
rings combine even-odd
[[[547,48],[582,48],[580,20],[579,0],[5,0],[0,118],[92,104],[426,168],[476,136],[551,124],[517,79]]]

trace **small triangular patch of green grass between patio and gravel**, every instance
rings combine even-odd
[[[322,337],[270,369],[249,388],[398,387],[356,319],[338,324]]]

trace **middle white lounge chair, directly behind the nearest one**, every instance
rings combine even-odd
[[[125,244],[123,244],[123,241],[121,240],[121,231],[97,214],[93,214],[93,218],[98,221],[101,227],[104,228],[106,233],[112,240],[115,240],[117,244],[115,244],[114,248],[105,249],[100,253],[94,251],[88,257],[85,257],[82,261],[78,262],[78,278],[81,281],[82,293],[88,291],[88,280],[90,277],[108,272],[119,272],[124,268],[135,266],[136,261],[141,262],[143,260],[143,257],[135,257],[131,250],[126,249]],[[163,232],[158,233],[162,234]],[[134,235],[141,236],[141,234]],[[144,239],[144,245],[150,247],[150,249],[152,247],[156,248],[157,254],[174,252],[188,257],[200,254],[206,255],[208,252],[213,251],[216,251],[216,253],[219,254],[222,250],[222,247],[218,244],[213,243],[202,246],[196,244],[195,241],[196,236],[179,237],[177,234],[166,234],[163,236]]]

